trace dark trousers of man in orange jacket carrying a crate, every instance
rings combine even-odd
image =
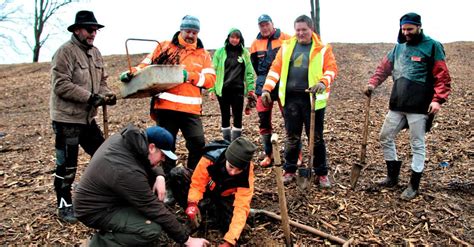
[[[173,149],[176,150],[176,136],[181,130],[184,139],[186,140],[186,148],[188,149],[188,163],[187,167],[194,170],[199,159],[202,156],[202,149],[204,147],[204,130],[202,128],[201,117],[199,115],[170,111],[170,110],[154,110],[157,118],[156,125],[168,130],[174,138]],[[176,161],[166,157],[163,162],[163,169],[166,174],[176,166]]]

